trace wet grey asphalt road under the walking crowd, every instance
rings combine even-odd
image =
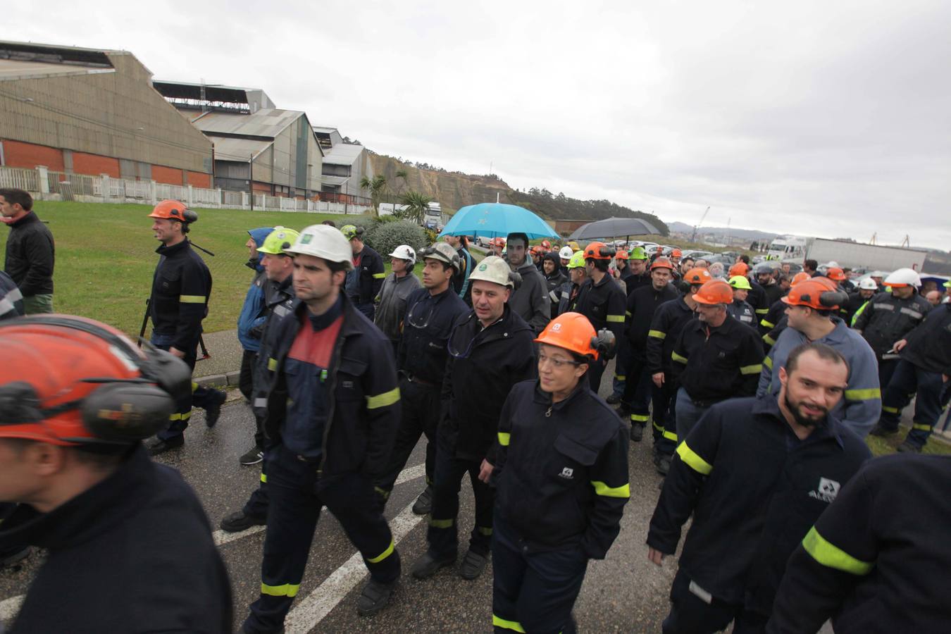
[[[609,385],[611,374],[609,367],[605,386]],[[236,391],[232,397],[237,397]],[[214,528],[224,515],[242,508],[259,481],[257,466],[238,464],[238,457],[250,447],[253,427],[251,413],[240,400],[225,405],[213,430],[205,428],[203,414],[196,410],[185,433],[184,449],[158,458],[182,471],[202,500]],[[621,533],[608,558],[588,567],[575,605],[575,618],[579,630],[584,632],[659,632],[667,613],[667,593],[675,563],[668,561],[662,568],[654,567],[647,560],[644,545],[660,482],[650,460],[650,441],[631,443],[630,458],[631,501],[624,513]],[[287,621],[288,632],[492,631],[491,567],[475,582],[464,581],[450,568],[421,582],[409,574],[412,563],[425,550],[425,523],[410,511],[424,487],[422,461],[420,443],[387,505],[386,516],[398,540],[403,563],[403,575],[392,604],[374,617],[358,616],[356,602],[366,580],[365,568],[334,517],[324,512],[301,593]],[[467,539],[472,522],[472,492],[464,482],[459,514],[463,540]],[[215,537],[231,574],[235,622],[240,626],[247,606],[258,597],[264,532],[219,531]],[[42,557],[42,553],[34,552],[22,566],[0,570],[0,619],[8,621],[15,614],[16,597],[29,586]]]

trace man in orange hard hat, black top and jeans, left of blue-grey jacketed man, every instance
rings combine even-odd
[[[670,370],[680,382],[675,408],[680,440],[712,405],[756,394],[763,369],[760,337],[727,313],[733,301],[730,285],[711,279],[692,298],[697,320],[684,327],[670,353]]]

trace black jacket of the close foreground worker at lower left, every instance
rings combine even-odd
[[[48,548],[11,633],[232,632],[231,586],[202,505],[142,446],[49,513],[21,505],[0,548]]]

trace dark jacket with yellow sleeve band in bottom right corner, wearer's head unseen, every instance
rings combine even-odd
[[[951,458],[898,453],[852,478],[796,548],[769,634],[946,632]]]

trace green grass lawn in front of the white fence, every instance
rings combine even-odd
[[[93,317],[138,336],[146,308],[159,243],[152,237],[151,208],[140,204],[38,201],[34,210],[56,240],[53,307],[58,313]],[[189,238],[201,251],[213,279],[205,332],[237,327],[252,272],[244,262],[247,230],[281,224],[301,230],[340,214],[307,214],[241,209],[197,209],[199,221]],[[0,254],[10,230],[0,225]],[[2,260],[0,260],[2,261]]]

